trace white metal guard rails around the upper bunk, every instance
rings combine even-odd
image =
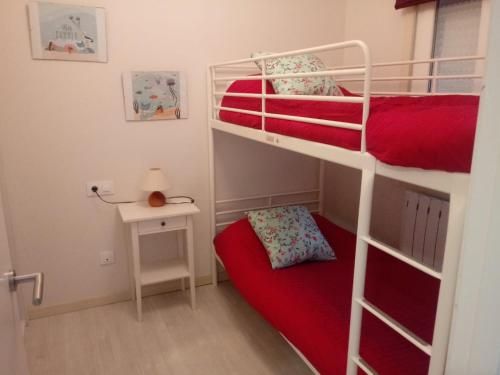
[[[287,73],[287,74],[268,74],[266,72],[266,62],[279,57],[296,56],[309,53],[320,53],[335,50],[345,49],[358,49],[362,53],[362,64],[359,65],[345,65],[327,67],[327,70],[319,72],[307,73]],[[420,60],[403,60],[391,61],[386,63],[372,64],[370,51],[367,45],[360,40],[351,40],[340,43],[327,44],[319,47],[305,48],[283,53],[269,54],[254,58],[233,60],[209,66],[209,95],[211,98],[210,104],[210,118],[213,120],[218,119],[219,111],[237,112],[242,114],[254,115],[261,117],[260,130],[266,131],[266,119],[274,118],[289,121],[305,122],[317,125],[332,126],[338,128],[352,129],[361,132],[361,151],[366,151],[366,122],[370,112],[370,95],[390,95],[390,96],[428,96],[428,95],[450,95],[450,94],[479,94],[482,90],[482,78],[484,70],[484,56],[460,56],[460,57],[439,57]],[[249,75],[251,69],[255,73],[256,68],[253,63],[260,62],[262,72],[257,75]],[[442,74],[440,67],[442,64],[449,63],[469,63],[469,73],[459,74]],[[246,66],[245,66],[246,64]],[[249,67],[252,64],[253,68]],[[472,64],[472,65],[471,65]],[[408,74],[387,75],[380,73],[380,70],[387,68],[397,67],[401,70],[407,70]],[[373,71],[377,72],[376,77],[372,77]],[[238,75],[237,73],[240,74]],[[386,72],[387,73],[387,72]],[[236,75],[235,75],[236,74]],[[280,95],[266,93],[266,81],[272,79],[283,78],[306,78],[306,77],[324,77],[332,76],[337,83],[353,83],[359,85],[359,90],[354,90],[355,94],[359,96],[322,96],[322,95]],[[228,85],[235,80],[260,80],[262,83],[261,93],[228,93],[221,89],[221,85]],[[475,82],[471,85],[470,90],[462,92],[440,92],[438,90],[438,82],[447,80],[468,80]],[[382,90],[371,91],[372,83],[388,83],[400,82],[405,83],[405,89],[400,91],[395,90]],[[423,84],[423,85],[422,85]],[[422,89],[423,88],[423,89]],[[261,111],[223,107],[221,105],[223,96],[241,97],[241,98],[260,98]],[[313,117],[292,116],[278,113],[269,113],[266,111],[267,99],[289,99],[289,100],[314,100],[325,102],[338,102],[338,103],[360,103],[362,104],[362,119],[361,123],[342,122],[324,120]]]

